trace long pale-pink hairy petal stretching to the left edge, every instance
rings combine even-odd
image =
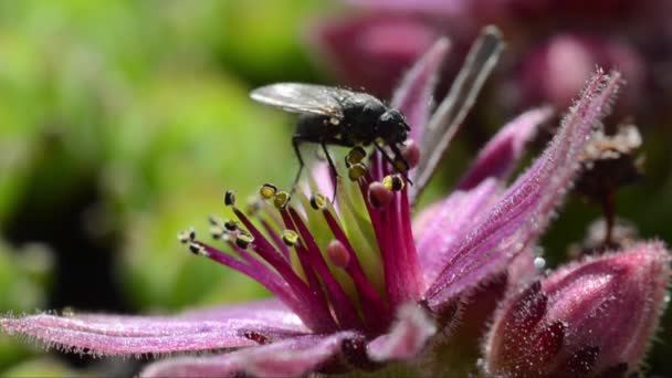
[[[39,314],[2,318],[8,334],[48,346],[96,355],[211,350],[256,345],[307,333],[298,317],[277,301],[199,311],[181,316]],[[252,335],[252,336],[251,336]]]

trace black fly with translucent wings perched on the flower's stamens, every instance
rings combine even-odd
[[[260,103],[301,114],[292,136],[300,164],[294,186],[304,167],[300,150],[304,141],[322,146],[335,177],[338,172],[327,145],[374,145],[401,174],[406,175],[408,170],[408,162],[399,150],[410,130],[406,118],[398,109],[369,94],[313,84],[277,83],[256,88],[250,96]],[[386,146],[395,154],[393,157],[384,148]]]

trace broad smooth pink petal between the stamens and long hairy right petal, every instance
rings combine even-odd
[[[416,217],[413,234],[424,282],[433,282],[449,259],[455,239],[465,234],[494,203],[502,191],[495,179],[486,179],[471,190],[458,190],[431,204]],[[421,229],[418,225],[426,222]]]

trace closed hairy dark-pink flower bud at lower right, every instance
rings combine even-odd
[[[501,308],[484,368],[510,377],[633,372],[658,324],[669,279],[670,254],[661,243],[560,269]]]

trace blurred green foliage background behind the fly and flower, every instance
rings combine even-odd
[[[291,183],[293,118],[248,93],[334,80],[303,38],[328,7],[335,2],[0,0],[0,313],[170,312],[265,295],[193,259],[176,233],[204,230],[227,188],[244,198],[262,182]],[[668,148],[644,143],[653,155]],[[471,153],[458,143],[430,197]],[[664,168],[653,176],[624,190],[619,207],[643,235],[670,241],[672,178]],[[563,254],[582,238],[599,214],[585,209],[570,201],[547,251]],[[0,337],[7,376],[82,374],[78,360]]]

